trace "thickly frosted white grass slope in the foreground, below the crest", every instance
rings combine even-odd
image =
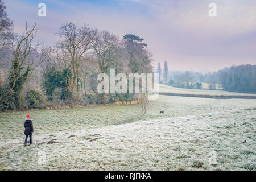
[[[10,139],[0,143],[0,169],[255,170],[255,118],[250,107],[40,135],[30,146]],[[209,164],[210,151],[217,164]]]

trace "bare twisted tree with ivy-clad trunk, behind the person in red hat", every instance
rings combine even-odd
[[[33,55],[39,44],[32,47],[31,43],[36,36],[36,23],[29,29],[26,22],[26,33],[23,36],[15,36],[11,42],[12,53],[8,56],[10,68],[4,72],[9,73],[7,88],[10,97],[13,97],[16,106],[21,108],[23,84],[27,81],[28,75],[40,64],[40,60]]]

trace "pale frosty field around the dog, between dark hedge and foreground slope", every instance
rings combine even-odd
[[[256,106],[255,99],[212,99],[199,97],[162,96],[151,100],[147,113],[139,121],[182,117],[185,115],[211,113],[214,111],[240,109]],[[160,111],[164,111],[160,114]],[[256,113],[256,111],[255,111]]]

